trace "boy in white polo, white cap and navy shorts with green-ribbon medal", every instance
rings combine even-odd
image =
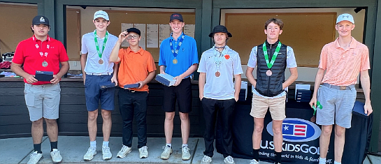
[[[96,11],[93,19],[96,29],[82,36],[80,65],[83,83],[85,84],[86,107],[88,113],[87,128],[89,130],[90,147],[83,159],[91,161],[96,154],[96,118],[98,105],[101,101],[103,118],[103,160],[109,160],[113,154],[108,147],[111,132],[111,111],[114,110],[114,91],[110,83],[117,85],[117,64],[108,61],[111,50],[117,42],[117,37],[108,33],[110,24],[108,14],[103,10]],[[101,87],[102,86],[102,87]],[[103,88],[108,86],[108,88]],[[110,87],[111,86],[111,87]]]

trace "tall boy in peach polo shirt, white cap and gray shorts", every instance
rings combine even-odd
[[[345,128],[350,128],[352,108],[356,101],[357,91],[354,84],[360,73],[360,80],[365,95],[364,112],[371,114],[371,83],[368,69],[369,52],[366,45],[352,38],[354,20],[350,14],[338,16],[335,25],[338,38],[326,45],[320,54],[319,70],[315,77],[315,88],[310,105],[317,106],[317,100],[322,105],[317,110],[316,123],[322,125],[320,135],[319,164],[326,163],[326,154],[333,124],[335,124],[335,164],[341,163],[345,143]],[[323,87],[317,90],[319,85]]]

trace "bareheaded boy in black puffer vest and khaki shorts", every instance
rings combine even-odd
[[[247,63],[246,77],[252,84],[252,110],[254,117],[254,131],[252,134],[253,159],[250,164],[259,163],[259,148],[261,135],[264,129],[264,117],[270,108],[273,119],[275,164],[280,163],[282,157],[282,122],[286,118],[285,88],[298,78],[296,60],[292,47],[280,43],[283,22],[271,18],[264,24],[264,33],[267,38],[263,44],[252,48]],[[257,80],[252,72],[257,66]],[[291,75],[285,80],[285,70],[289,68]]]

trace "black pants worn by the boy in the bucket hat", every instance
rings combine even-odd
[[[214,100],[210,98],[203,98],[201,100],[203,106],[203,117],[205,119],[206,129],[203,138],[205,140],[205,151],[203,154],[206,156],[213,156],[213,142],[215,140],[215,124],[217,120],[218,126],[221,127],[220,131],[217,131],[217,136],[222,136],[220,142],[221,154],[224,158],[231,156],[233,149],[233,140],[231,138],[231,124],[233,117],[234,106],[236,105],[236,100]],[[217,119],[218,118],[218,119]],[[216,146],[217,147],[217,146]]]

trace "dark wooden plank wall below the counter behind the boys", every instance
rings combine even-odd
[[[61,102],[59,105],[59,135],[88,135],[87,110],[85,105],[85,87],[82,82],[60,82]],[[148,137],[164,137],[164,111],[163,89],[159,83],[150,83],[150,94],[148,96]],[[192,112],[189,113],[191,130],[189,137],[202,137],[203,128],[200,117],[199,87],[192,86],[193,102]],[[117,105],[117,91],[115,90],[115,110],[112,112],[113,128],[112,136],[122,136],[122,119]],[[31,121],[24,100],[24,82],[0,82],[0,138],[8,137],[30,137]],[[101,133],[102,117],[99,111],[98,135]],[[134,122],[134,132],[136,126]],[[176,114],[174,119],[173,137],[181,137],[180,117]]]

